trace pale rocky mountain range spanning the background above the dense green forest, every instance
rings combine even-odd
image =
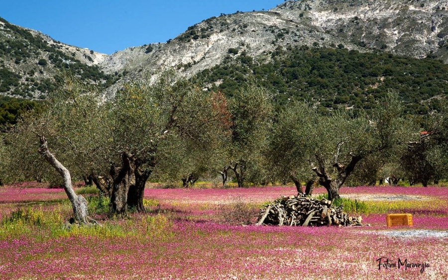
[[[63,68],[113,93],[122,83],[163,68],[192,77],[229,60],[272,62],[272,53],[300,46],[387,52],[447,63],[447,19],[446,0],[292,0],[267,11],[211,17],[166,43],[131,47],[110,56],[0,20],[0,94],[44,96],[52,89],[54,74]]]

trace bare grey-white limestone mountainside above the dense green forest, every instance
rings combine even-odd
[[[145,59],[131,58],[139,62],[132,67],[122,65],[131,71],[128,78],[166,67],[192,76],[219,64],[229,52],[267,60],[270,52],[289,45],[382,50],[416,58],[431,55],[447,63],[448,2],[288,1],[268,11],[209,18],[159,45]]]

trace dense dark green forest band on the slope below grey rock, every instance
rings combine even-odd
[[[344,105],[369,109],[388,91],[397,91],[410,114],[438,109],[438,95],[448,92],[448,65],[389,53],[360,53],[336,48],[277,48],[266,58],[253,58],[231,49],[224,62],[198,77],[212,90],[231,96],[253,74],[275,101],[306,100],[320,108]]]

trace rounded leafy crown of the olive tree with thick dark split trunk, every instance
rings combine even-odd
[[[155,83],[126,85],[110,103],[110,145],[130,152],[155,178],[180,180],[219,157],[229,115],[221,93],[165,72]]]

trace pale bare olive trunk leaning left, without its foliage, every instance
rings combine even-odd
[[[64,181],[65,193],[67,193],[67,196],[72,203],[75,221],[80,224],[89,224],[90,221],[94,221],[93,219],[89,218],[89,213],[87,211],[87,200],[82,195],[77,195],[75,193],[75,190],[72,186],[70,172],[48,150],[48,143],[44,136],[40,137],[39,153],[62,176],[62,179]]]

